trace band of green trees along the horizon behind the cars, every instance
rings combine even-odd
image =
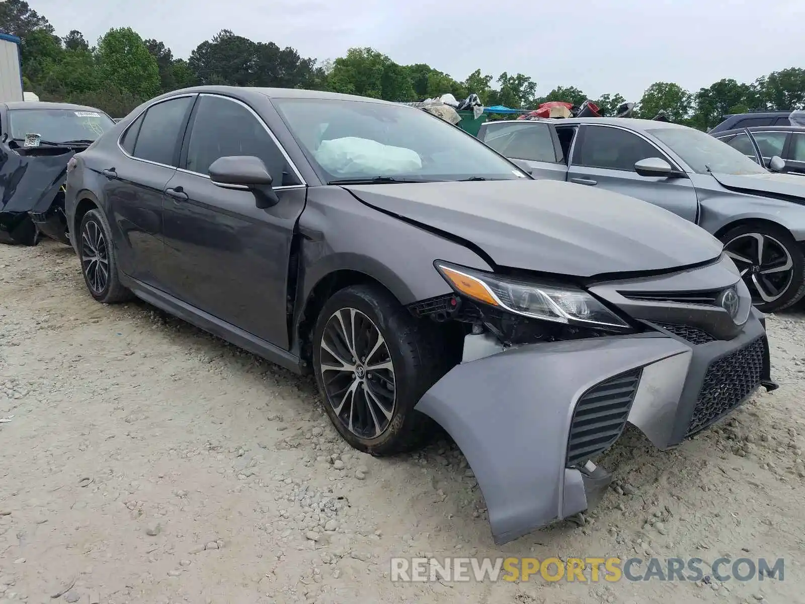
[[[522,73],[502,72],[494,78],[476,69],[463,81],[456,80],[428,64],[397,64],[374,48],[350,48],[336,60],[317,62],[299,56],[295,48],[254,42],[229,30],[200,43],[188,60],[173,56],[162,41],[143,41],[130,27],[109,30],[97,48],[90,48],[81,31],[56,36],[47,19],[25,0],[0,0],[0,31],[22,39],[26,90],[43,101],[92,105],[114,117],[126,115],[159,93],[194,85],[332,90],[389,101],[415,101],[444,93],[463,100],[475,93],[484,105],[517,109],[534,108],[543,101],[580,105],[587,99],[575,86],[557,86],[537,97],[536,82]],[[594,100],[605,115],[613,115],[625,101],[617,93]],[[725,114],[803,108],[805,68],[791,67],[749,84],[725,78],[696,93],[671,82],[654,82],[640,99],[638,116],[654,118],[664,110],[674,122],[707,130]]]

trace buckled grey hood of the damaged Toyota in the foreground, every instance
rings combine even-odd
[[[376,209],[474,244],[501,267],[591,277],[684,267],[716,259],[722,250],[712,235],[665,209],[581,184],[490,180],[345,188]]]

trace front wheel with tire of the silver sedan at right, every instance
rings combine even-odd
[[[777,312],[805,296],[805,254],[786,229],[741,225],[721,241],[761,312]]]

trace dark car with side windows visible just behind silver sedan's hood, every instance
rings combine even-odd
[[[766,168],[777,155],[786,163],[781,172],[805,175],[805,128],[802,126],[754,126],[725,130],[713,136],[754,162],[762,160]]]

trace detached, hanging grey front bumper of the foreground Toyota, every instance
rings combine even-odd
[[[416,409],[473,468],[497,544],[592,507],[610,476],[588,460],[626,422],[659,449],[728,415],[770,382],[762,314],[729,341],[663,333],[522,345],[453,367]]]

